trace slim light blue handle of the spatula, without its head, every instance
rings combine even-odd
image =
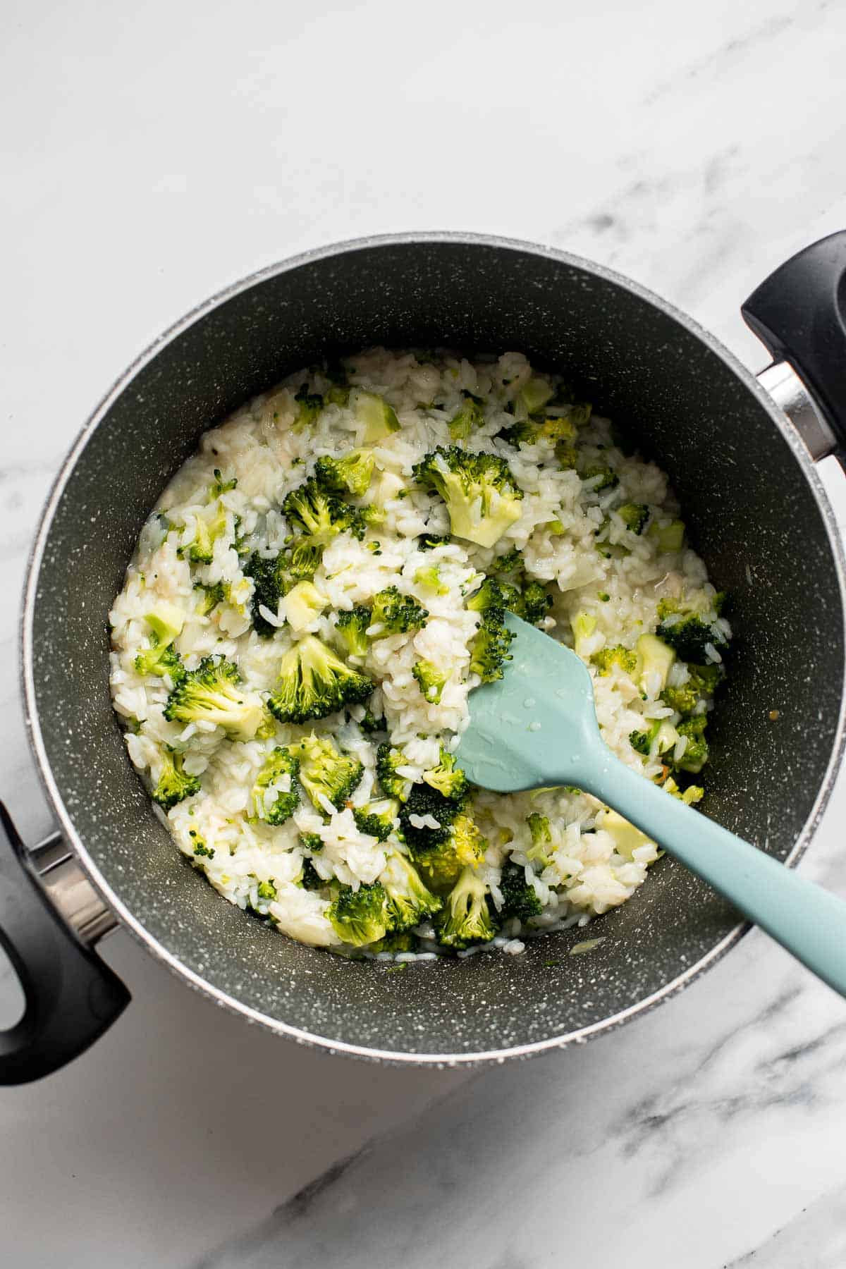
[[[709,882],[830,987],[846,996],[846,902],[670,797],[624,763],[582,784]],[[602,787],[597,787],[601,784]]]

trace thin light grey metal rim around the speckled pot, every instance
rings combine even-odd
[[[737,379],[752,392],[758,404],[769,414],[774,426],[780,431],[784,439],[790,445],[794,457],[798,461],[799,468],[804,475],[810,492],[817,503],[821,516],[823,519],[826,532],[828,536],[828,542],[831,552],[835,561],[835,571],[838,580],[840,590],[840,607],[841,607],[841,622],[846,628],[846,556],[843,552],[843,543],[837,528],[837,522],[835,519],[833,509],[828,501],[826,490],[817,475],[813,459],[810,458],[808,450],[805,449],[798,431],[791,425],[790,420],[784,415],[779,407],[775,405],[772,398],[761,387],[751,371],[748,371],[733,353],[731,353],[710,331],[705,330],[699,325],[693,317],[681,310],[676,308],[674,305],[668,303],[661,296],[654,294],[647,287],[641,286],[624,274],[616,273],[614,269],[609,269],[602,264],[597,264],[585,256],[573,255],[568,251],[561,251],[556,247],[544,246],[542,244],[524,241],[521,239],[502,237],[498,235],[488,233],[473,233],[464,231],[422,231],[422,232],[400,232],[400,233],[377,233],[367,237],[348,239],[340,242],[332,242],[327,246],[312,247],[299,254],[279,260],[274,264],[265,265],[265,268],[256,270],[255,273],[247,274],[236,282],[228,283],[219,291],[214,292],[209,298],[204,299],[194,308],[192,308],[185,316],[180,317],[171,326],[169,326],[161,335],[159,335],[120,374],[112,387],[108,390],[105,396],[100,400],[99,405],[90,414],[89,419],[81,428],[76,437],[76,440],[71,445],[66,458],[63,459],[58,473],[53,481],[52,489],[47,496],[42,519],[36,534],[36,539],[32,546],[29,555],[29,561],[27,565],[27,579],[23,594],[23,621],[22,621],[22,640],[20,640],[20,678],[24,697],[24,714],[27,731],[29,735],[29,744],[36,756],[38,765],[38,772],[41,775],[42,784],[49,799],[49,803],[58,819],[61,830],[72,846],[76,858],[79,859],[84,872],[88,874],[89,879],[94,884],[95,890],[103,896],[104,901],[109,905],[112,911],[119,919],[120,924],[124,925],[129,933],[157,959],[167,966],[171,972],[178,975],[183,981],[188,982],[194,990],[203,992],[209,996],[216,1004],[223,1005],[231,1009],[233,1013],[240,1014],[246,1018],[247,1022],[256,1023],[268,1030],[271,1030],[279,1036],[285,1036],[289,1039],[299,1044],[307,1044],[309,1047],[321,1048],[330,1053],[342,1053],[350,1057],[356,1057],[367,1061],[384,1062],[392,1066],[429,1066],[429,1067],[472,1067],[472,1066],[485,1066],[492,1063],[501,1063],[505,1060],[511,1058],[525,1058],[531,1057],[538,1053],[543,1053],[550,1049],[566,1048],[573,1043],[585,1043],[587,1039],[599,1036],[602,1032],[611,1030],[616,1027],[623,1025],[630,1018],[637,1014],[646,1013],[653,1009],[656,1005],[671,996],[682,991],[686,986],[694,982],[700,975],[712,966],[717,964],[723,956],[736,944],[739,939],[751,929],[748,921],[738,921],[733,929],[726,934],[720,942],[712,948],[704,957],[695,962],[695,964],[686,968],[677,977],[672,978],[670,982],[665,983],[658,991],[652,992],[652,995],[646,996],[643,1000],[629,1005],[627,1009],[619,1010],[611,1014],[609,1018],[604,1018],[600,1022],[591,1023],[587,1027],[578,1028],[577,1030],[568,1032],[564,1036],[553,1036],[548,1039],[537,1041],[530,1044],[517,1044],[510,1048],[502,1049],[485,1049],[477,1053],[403,1053],[392,1049],[377,1049],[361,1044],[350,1044],[341,1041],[332,1041],[327,1037],[318,1036],[316,1033],[304,1030],[298,1027],[292,1027],[288,1023],[283,1023],[275,1018],[269,1018],[266,1014],[245,1005],[241,1000],[231,996],[228,992],[221,991],[214,987],[200,975],[189,970],[172,952],[170,952],[164,944],[159,942],[153,935],[148,933],[145,925],[134,916],[134,914],[123,904],[123,901],[114,893],[109,883],[103,877],[100,869],[98,868],[94,859],[89,855],[84,841],[76,831],[74,820],[65,807],[61,792],[53,777],[49,760],[47,758],[47,751],[43,742],[41,722],[38,718],[38,708],[36,699],[36,678],[34,678],[34,660],[33,660],[33,615],[36,604],[36,593],[38,586],[38,575],[41,571],[41,563],[43,560],[44,549],[49,537],[51,527],[53,523],[53,516],[58,503],[65,492],[65,487],[71,478],[71,475],[76,467],[76,462],[85,449],[90,437],[94,434],[104,415],[112,407],[114,401],[119,395],[127,388],[127,386],[136,378],[136,376],[152,362],[159,353],[179,338],[185,330],[188,330],[195,321],[207,313],[212,312],[214,308],[219,307],[226,301],[233,298],[255,287],[256,284],[268,280],[269,278],[279,277],[280,274],[288,273],[293,269],[298,269],[304,264],[311,264],[316,260],[325,260],[332,256],[348,255],[353,251],[369,250],[372,247],[382,246],[408,246],[408,245],[426,245],[426,244],[458,244],[467,246],[486,246],[496,247],[497,250],[505,251],[521,251],[531,253],[533,255],[542,256],[549,260],[554,260],[558,264],[566,264],[571,268],[582,269],[604,282],[610,282],[616,287],[628,291],[639,299],[652,303],[654,307],[661,310],[665,315],[677,321],[680,325],[686,327],[690,334],[695,335],[701,343],[710,349],[720,360],[728,367],[729,371],[734,373]],[[837,720],[837,727],[835,732],[835,742],[832,745],[831,755],[828,759],[828,765],[826,768],[826,774],[819,786],[819,791],[812,811],[805,820],[805,824],[799,834],[790,854],[785,859],[788,867],[795,867],[808,844],[819,826],[819,821],[826,811],[828,799],[832,794],[835,782],[840,765],[843,760],[846,753],[846,690],[841,693],[840,702],[840,714]]]

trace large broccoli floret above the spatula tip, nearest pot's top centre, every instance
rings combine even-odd
[[[444,499],[459,538],[492,547],[520,519],[523,490],[504,458],[438,447],[415,464],[413,473],[419,485]]]

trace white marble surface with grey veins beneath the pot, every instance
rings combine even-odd
[[[152,336],[303,247],[474,228],[610,263],[758,367],[739,301],[846,222],[845,42],[837,0],[6,0],[0,794],[27,839],[51,826],[16,693],[27,546]],[[845,816],[841,780],[803,864],[841,891]],[[757,933],[623,1032],[472,1077],[294,1048],[123,934],[104,954],[132,1008],[0,1093],[4,1264],[846,1263],[846,1008]]]

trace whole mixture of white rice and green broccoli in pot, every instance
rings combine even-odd
[[[731,636],[666,476],[525,357],[374,349],[208,431],[110,614],[129,756],[231,902],[359,956],[523,950],[625,902],[654,844],[453,750],[506,609],[589,665],[602,736],[698,802]]]

